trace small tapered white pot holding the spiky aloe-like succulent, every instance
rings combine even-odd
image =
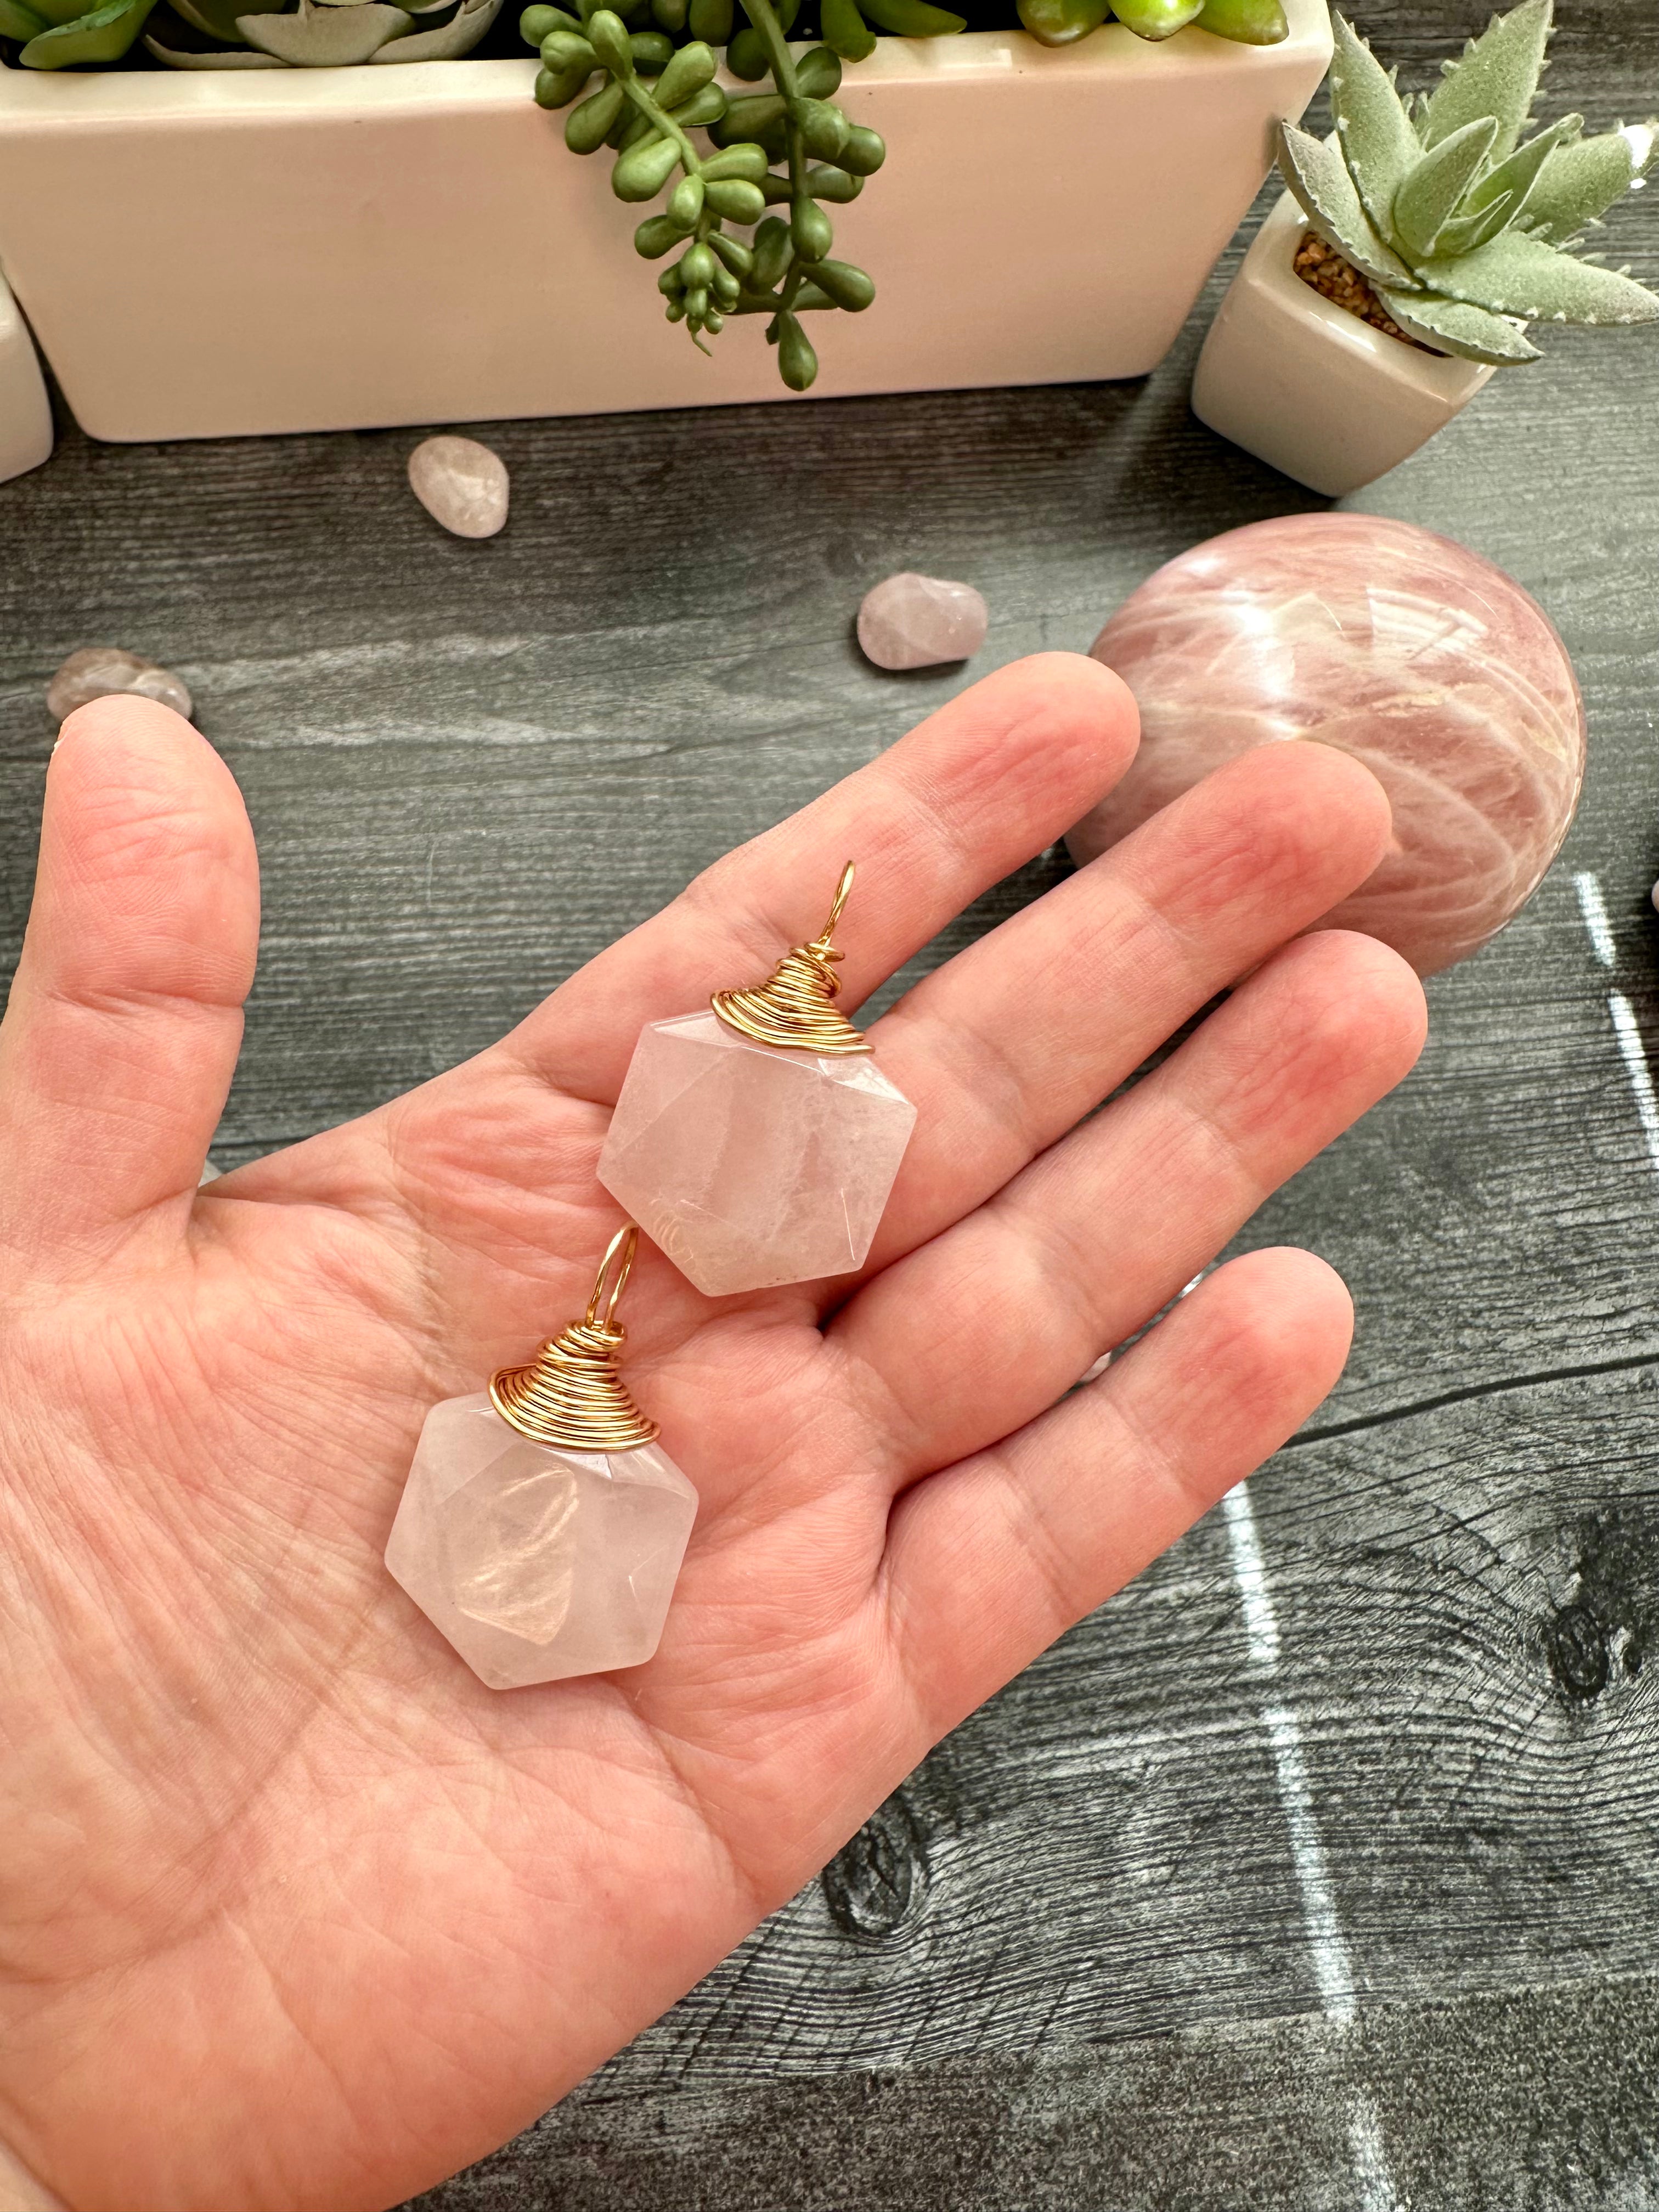
[[[1402,345],[1296,274],[1307,217],[1285,192],[1203,341],[1192,414],[1312,491],[1374,482],[1449,422],[1493,374]]]

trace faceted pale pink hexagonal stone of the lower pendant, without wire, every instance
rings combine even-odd
[[[491,1690],[650,1659],[697,1491],[657,1444],[562,1451],[487,1391],[427,1413],[387,1571]]]

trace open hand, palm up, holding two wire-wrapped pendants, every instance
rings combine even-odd
[[[641,1259],[628,1376],[701,1498],[650,1666],[489,1692],[380,1566],[425,1409],[586,1301],[639,1024],[763,973],[847,852],[856,1004],[1130,750],[1104,670],[1004,670],[480,1060],[197,1197],[246,818],[166,710],[66,726],[0,1031],[0,2139],[71,2205],[345,2212],[478,2157],[1329,1387],[1340,1285],[1274,1252],[1055,1402],[1418,1048],[1391,953],[1274,951],[1387,836],[1296,745],[887,1018],[920,1121],[856,1290]]]

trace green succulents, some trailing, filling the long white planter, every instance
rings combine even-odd
[[[157,0],[0,0],[0,38],[22,40],[27,69],[119,62],[139,35],[170,69],[325,69],[431,62],[469,53],[502,0],[168,0],[190,33],[157,38]],[[818,44],[792,46],[801,0],[571,0],[520,15],[542,66],[535,100],[568,108],[573,153],[615,159],[611,188],[659,201],[635,250],[661,261],[670,323],[708,352],[734,314],[765,316],[779,376],[805,392],[818,354],[803,316],[860,314],[876,285],[834,254],[832,208],[847,206],[887,157],[876,131],[836,104],[841,71],[894,38],[949,38],[967,27],[933,0],[816,0]],[[1018,0],[1022,24],[1064,46],[1110,15],[1137,38],[1186,27],[1243,44],[1287,35],[1281,0]],[[728,80],[765,86],[730,95]],[[599,80],[595,86],[595,77]],[[768,212],[776,210],[776,212]],[[748,232],[748,237],[739,237]]]

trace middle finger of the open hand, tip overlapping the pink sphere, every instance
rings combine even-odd
[[[1261,745],[916,984],[869,1031],[918,1117],[865,1274],[984,1203],[1329,914],[1389,832],[1347,754]]]

